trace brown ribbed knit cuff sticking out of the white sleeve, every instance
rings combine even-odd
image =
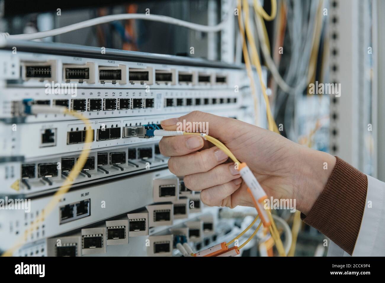
[[[308,215],[301,213],[301,219],[352,255],[365,208],[368,178],[336,158],[325,189]]]

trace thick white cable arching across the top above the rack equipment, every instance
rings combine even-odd
[[[101,23],[108,23],[108,22],[113,22],[118,20],[130,20],[130,19],[141,19],[141,20],[169,23],[172,25],[179,25],[181,27],[191,28],[192,30],[197,30],[199,32],[219,32],[220,30],[223,30],[224,27],[226,26],[226,20],[219,23],[218,25],[207,26],[207,25],[200,25],[198,23],[186,22],[183,20],[178,20],[176,18],[162,16],[162,15],[117,14],[117,15],[108,15],[108,16],[93,18],[90,20],[85,20],[83,22],[74,23],[72,25],[67,25],[66,27],[54,28],[53,30],[46,30],[44,32],[34,32],[34,33],[15,34],[15,35],[9,35],[8,33],[0,33],[0,36],[9,38],[9,39],[18,39],[18,40],[42,39],[44,37],[50,37],[50,36],[55,36],[66,32],[71,32],[73,30],[79,30],[81,28],[92,27],[94,25],[99,25]]]

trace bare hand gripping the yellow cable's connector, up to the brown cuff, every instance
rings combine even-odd
[[[226,117],[193,111],[161,121],[165,130],[177,123],[208,122],[210,136],[219,139],[237,159],[246,162],[262,188],[275,199],[296,199],[296,209],[308,213],[335,165],[335,157],[292,142],[275,132]],[[170,156],[169,170],[184,176],[187,188],[201,191],[209,206],[254,206],[234,163],[216,146],[196,135],[163,137],[159,149]],[[328,162],[328,169],[323,169]]]

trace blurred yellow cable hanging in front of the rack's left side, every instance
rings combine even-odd
[[[91,124],[87,118],[85,118],[82,114],[78,112],[73,112],[73,111],[70,111],[69,109],[65,109],[63,113],[72,115],[75,118],[83,121],[85,125],[85,130],[86,130],[83,150],[79,155],[79,159],[77,159],[77,163],[74,165],[74,167],[72,167],[70,174],[67,176],[67,179],[65,179],[62,186],[54,194],[50,202],[43,209],[44,212],[40,214],[39,218],[35,219],[35,221],[33,221],[27,227],[27,229],[24,232],[24,235],[20,237],[20,240],[18,240],[14,246],[12,246],[7,251],[5,251],[2,254],[2,256],[12,256],[13,252],[17,250],[20,246],[22,246],[25,243],[25,241],[27,241],[28,236],[39,227],[40,223],[44,222],[44,219],[52,212],[52,210],[55,208],[57,203],[59,203],[60,197],[69,191],[69,189],[72,186],[72,183],[80,174],[80,170],[84,167],[84,164],[87,161],[86,159],[89,155],[90,147],[91,147],[90,142],[92,142],[92,140],[94,139],[94,134],[91,129]]]

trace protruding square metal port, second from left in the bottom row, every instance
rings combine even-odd
[[[82,255],[105,253],[106,228],[82,229]]]

